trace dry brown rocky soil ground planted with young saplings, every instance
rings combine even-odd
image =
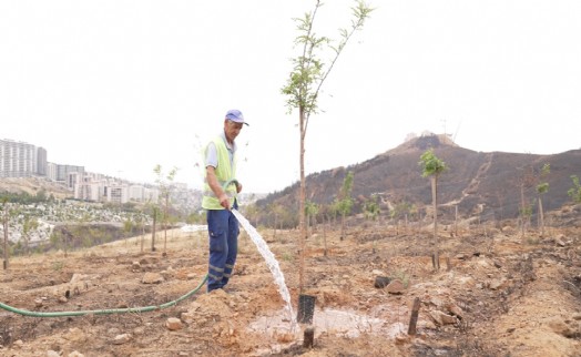
[[[144,313],[31,317],[0,309],[0,356],[581,356],[581,228],[544,237],[511,228],[441,237],[434,272],[429,231],[378,225],[318,231],[307,242],[306,289],[316,296],[315,343],[292,330],[263,257],[241,235],[226,290],[205,286]],[[263,231],[298,300],[296,231]],[[325,242],[327,254],[325,255]],[[205,233],[140,237],[69,253],[16,257],[0,302],[33,312],[156,306],[205,276]],[[404,289],[375,287],[377,276]],[[153,283],[146,284],[144,282]],[[156,283],[155,283],[156,282]],[[401,287],[401,286],[400,286]],[[408,336],[414,299],[417,334]]]

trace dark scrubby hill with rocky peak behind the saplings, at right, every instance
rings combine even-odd
[[[567,191],[572,187],[571,175],[581,176],[581,150],[553,155],[517,154],[504,152],[476,152],[460,147],[441,135],[412,139],[368,161],[347,167],[336,167],[308,175],[307,197],[318,204],[329,204],[336,197],[347,172],[355,174],[351,196],[359,204],[371,194],[379,194],[383,212],[407,202],[418,207],[431,204],[428,178],[421,176],[420,155],[429,147],[449,167],[439,177],[438,203],[440,214],[451,217],[458,205],[460,217],[479,214],[483,221],[514,218],[521,202],[521,182],[526,202],[537,214],[536,186],[540,183],[540,170],[550,164],[551,172],[543,182],[549,192],[543,196],[543,207],[551,211],[571,200]],[[297,206],[298,183],[257,202],[261,207],[277,203],[286,207]],[[359,207],[360,210],[360,207]],[[356,207],[357,212],[357,207]]]

